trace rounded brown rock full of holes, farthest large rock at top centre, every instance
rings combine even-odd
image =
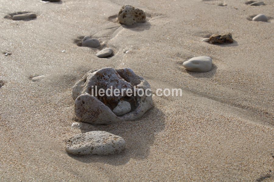
[[[146,13],[141,9],[134,8],[130,5],[124,5],[118,13],[118,20],[124,25],[134,25],[146,21]]]

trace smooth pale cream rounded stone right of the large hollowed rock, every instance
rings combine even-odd
[[[183,63],[188,71],[208,72],[212,68],[212,58],[208,56],[198,56],[189,59]]]

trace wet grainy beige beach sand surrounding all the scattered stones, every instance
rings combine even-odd
[[[219,2],[0,0],[0,180],[273,181],[274,4]],[[144,10],[147,22],[117,23],[127,4]],[[22,11],[37,18],[4,19]],[[258,14],[269,22],[248,20]],[[226,32],[234,43],[201,41]],[[104,46],[77,46],[86,35]],[[106,47],[114,56],[98,58]],[[213,69],[186,71],[182,63],[194,56],[213,58]],[[104,67],[131,68],[154,93],[181,88],[183,96],[153,96],[153,109],[136,121],[72,128],[79,122],[72,86]],[[65,152],[69,137],[93,130],[123,137],[126,149],[111,156]]]

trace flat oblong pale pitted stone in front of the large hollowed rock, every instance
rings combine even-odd
[[[105,131],[90,131],[72,136],[66,142],[66,151],[74,155],[109,155],[125,149],[125,140]]]

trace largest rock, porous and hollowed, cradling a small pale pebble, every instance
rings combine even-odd
[[[119,94],[115,94],[115,89]],[[100,90],[104,91],[103,95],[100,95]],[[147,94],[138,94],[146,90]],[[129,96],[127,92],[131,91]],[[129,68],[91,70],[73,86],[72,98],[76,116],[90,124],[135,120],[153,107],[149,83]],[[121,101],[130,103],[131,110],[116,116],[113,110]]]

